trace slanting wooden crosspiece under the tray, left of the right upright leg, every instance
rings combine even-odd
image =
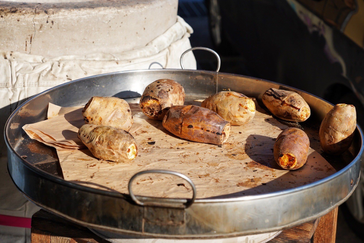
[[[307,243],[310,242],[314,234],[319,219],[312,220],[307,223],[300,224],[296,227],[283,230],[276,238],[269,241],[269,243]]]

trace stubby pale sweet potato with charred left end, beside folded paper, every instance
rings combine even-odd
[[[85,124],[110,126],[129,131],[133,116],[129,104],[117,97],[92,97],[82,110]]]

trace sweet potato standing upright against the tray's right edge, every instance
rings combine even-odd
[[[321,122],[319,133],[321,148],[328,154],[342,154],[353,142],[355,128],[354,105],[335,105]]]

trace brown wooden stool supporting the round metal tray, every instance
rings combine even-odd
[[[336,238],[337,207],[316,220],[283,230],[269,243],[333,243]],[[110,243],[79,226],[44,210],[32,216],[32,243]]]

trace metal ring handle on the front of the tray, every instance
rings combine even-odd
[[[197,194],[197,191],[196,191],[196,187],[195,187],[195,184],[192,182],[192,180],[190,178],[188,178],[187,176],[181,174],[181,173],[178,173],[178,172],[174,172],[174,171],[165,171],[165,170],[147,170],[147,171],[141,171],[141,172],[138,172],[137,174],[133,175],[130,180],[129,180],[129,184],[128,184],[128,190],[129,190],[129,194],[130,194],[130,197],[131,199],[138,205],[140,206],[144,206],[145,203],[141,202],[140,200],[137,199],[137,197],[134,195],[134,193],[132,192],[131,190],[131,184],[133,182],[133,180],[135,178],[137,178],[139,175],[143,175],[143,174],[147,174],[147,173],[161,173],[161,174],[171,174],[171,175],[176,175],[176,176],[179,176],[183,179],[185,179],[192,187],[192,191],[193,191],[193,196],[191,198],[191,200],[187,200],[187,202],[184,204],[185,205],[185,208],[188,208],[189,206],[191,206],[191,204],[195,201],[196,199],[196,194]]]

